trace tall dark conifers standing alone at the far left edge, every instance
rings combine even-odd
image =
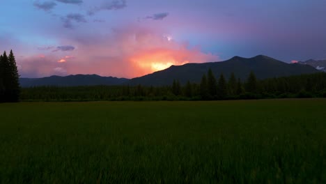
[[[0,102],[17,102],[20,99],[20,75],[13,50],[0,55]]]

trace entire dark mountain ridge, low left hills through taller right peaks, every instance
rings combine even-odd
[[[233,56],[226,61],[210,63],[186,63],[182,66],[170,66],[165,70],[156,71],[141,77],[132,79],[117,77],[101,77],[100,75],[68,75],[65,77],[53,75],[43,78],[21,78],[21,86],[95,86],[95,85],[144,85],[164,86],[171,85],[173,79],[179,80],[181,84],[190,82],[199,83],[201,77],[211,69],[215,77],[223,73],[228,79],[231,72],[242,81],[247,79],[249,72],[253,71],[257,79],[270,77],[286,77],[290,75],[309,74],[320,72],[313,66],[302,63],[284,63],[269,56],[257,55],[251,58]]]

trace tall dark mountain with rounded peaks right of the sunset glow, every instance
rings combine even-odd
[[[318,70],[308,65],[284,63],[263,55],[258,55],[253,58],[235,56],[232,59],[221,62],[187,63],[183,66],[171,66],[170,68],[154,72],[150,75],[130,79],[127,83],[130,85],[164,86],[171,85],[173,79],[178,79],[181,84],[185,84],[187,80],[199,83],[201,77],[208,72],[209,68],[215,77],[219,77],[223,73],[224,77],[228,79],[231,72],[234,72],[235,77],[240,77],[242,80],[247,79],[250,71],[253,71],[258,79],[318,72]]]

